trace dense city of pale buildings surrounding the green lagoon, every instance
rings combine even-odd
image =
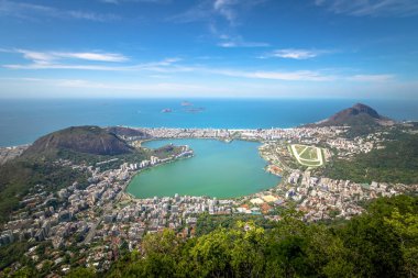
[[[346,129],[132,129],[140,135],[121,137],[135,147],[141,147],[144,141],[158,138],[216,138],[224,144],[233,140],[261,142],[258,151],[266,160],[265,170],[282,179],[268,190],[230,199],[178,194],[140,199],[125,192],[134,175],[177,159],[193,159],[194,151],[180,146],[180,152],[170,157],[151,156],[120,165],[118,158],[95,164],[59,158],[55,165],[86,175],[87,185],[74,181],[56,192],[45,190],[42,184],[33,187],[20,201],[20,209],[2,225],[0,245],[28,242],[30,248],[24,256],[40,271],[52,267],[54,274],[65,275],[75,264],[103,271],[121,252],[140,248],[145,234],[169,229],[180,237],[194,237],[201,215],[248,214],[280,221],[280,210],[295,205],[306,222],[346,220],[361,214],[362,204],[372,199],[418,191],[418,185],[361,184],[323,176],[319,170],[322,164],[383,146],[382,133],[348,138],[343,136]],[[305,157],[301,159],[322,163],[318,166],[300,163],[292,151],[296,149],[295,144],[298,144],[300,157]],[[22,152],[21,147],[8,148],[0,153],[4,154],[2,159],[12,157],[13,149]],[[110,163],[118,166],[103,167]],[[45,249],[45,243],[52,247]],[[45,252],[40,253],[38,248]],[[19,264],[12,264],[11,268],[19,269]]]

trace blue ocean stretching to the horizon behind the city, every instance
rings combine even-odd
[[[189,103],[182,103],[184,101],[186,100],[0,100],[0,146],[32,143],[42,135],[72,125],[294,127],[323,120],[356,102],[369,104],[381,114],[395,120],[418,120],[418,100],[187,99]]]

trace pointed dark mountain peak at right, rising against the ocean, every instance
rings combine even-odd
[[[310,126],[331,126],[331,125],[386,125],[394,121],[380,115],[376,110],[362,103],[356,103],[351,108],[344,109],[330,118],[311,124]]]

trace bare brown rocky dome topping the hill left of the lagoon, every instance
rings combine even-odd
[[[72,151],[92,155],[121,155],[133,148],[114,133],[99,126],[72,126],[36,140],[23,155],[50,154]]]

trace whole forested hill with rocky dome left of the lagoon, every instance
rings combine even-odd
[[[73,126],[36,140],[20,157],[0,166],[0,223],[21,209],[19,201],[37,185],[55,192],[77,181],[82,185],[88,174],[61,166],[59,158],[94,165],[116,156],[123,162],[139,162],[147,157],[116,134],[98,126]],[[129,158],[129,159],[128,159]],[[106,166],[111,166],[105,165]]]

